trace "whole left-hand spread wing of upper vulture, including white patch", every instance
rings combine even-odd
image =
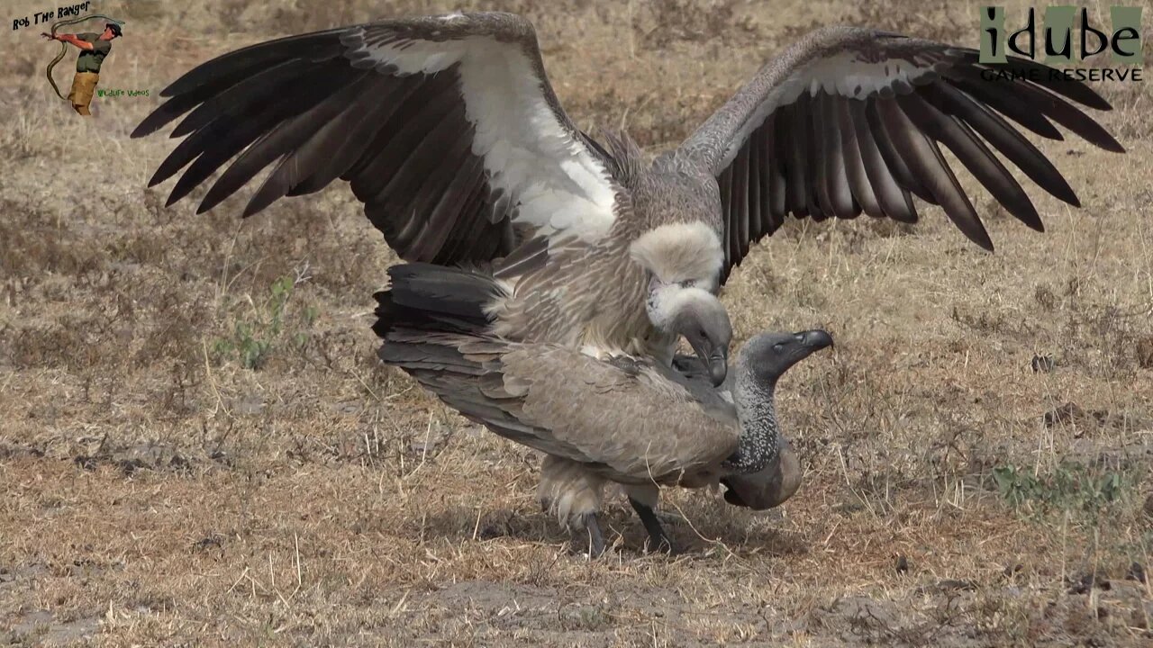
[[[187,113],[172,131],[187,137],[150,181],[183,169],[168,204],[221,168],[198,212],[269,165],[244,216],[340,178],[402,258],[439,264],[504,256],[514,226],[593,241],[613,223],[615,164],[560,108],[532,24],[512,14],[271,40],[161,96],[133,136]]]

